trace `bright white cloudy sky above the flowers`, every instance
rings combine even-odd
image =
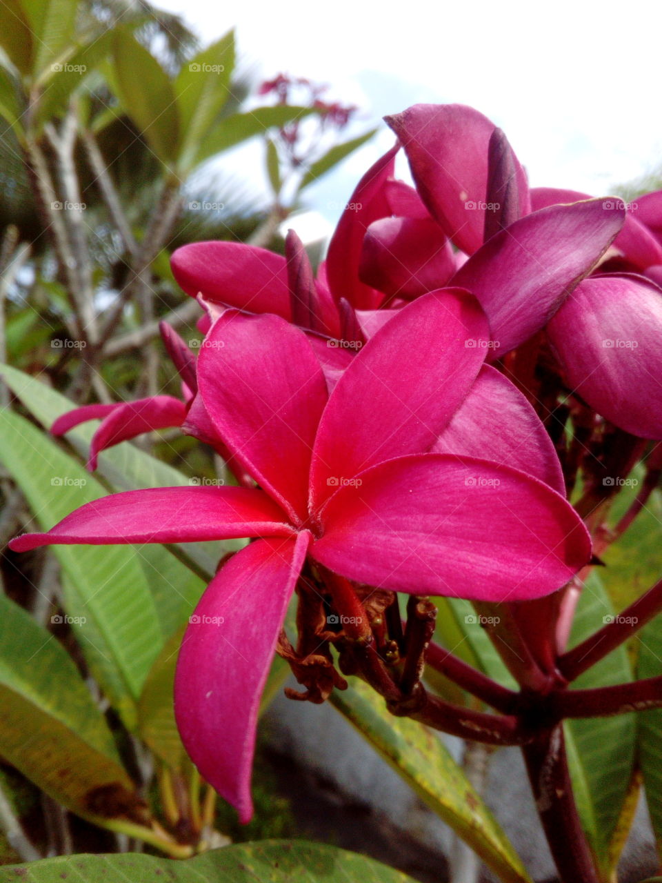
[[[471,104],[506,132],[534,186],[599,195],[662,165],[659,0],[156,2],[205,44],[237,26],[239,51],[265,78],[327,82],[334,98],[365,108],[366,127],[417,102]],[[314,208],[350,195],[392,143],[382,128],[311,189]],[[261,175],[246,160],[243,170]]]

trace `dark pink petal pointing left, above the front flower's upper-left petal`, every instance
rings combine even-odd
[[[241,242],[194,242],[170,258],[177,284],[186,294],[199,294],[248,313],[275,313],[291,318],[285,259],[266,248]]]

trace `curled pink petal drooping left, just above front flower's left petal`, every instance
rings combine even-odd
[[[186,406],[172,396],[151,396],[118,404],[94,433],[87,468],[94,472],[102,450],[153,429],[181,426],[185,417]]]

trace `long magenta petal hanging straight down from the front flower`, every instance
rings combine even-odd
[[[252,818],[260,697],[310,533],[258,540],[207,586],[177,660],[175,715],[186,751],[219,794]]]

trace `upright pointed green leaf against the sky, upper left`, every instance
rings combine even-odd
[[[177,74],[174,88],[182,131],[180,165],[193,161],[200,141],[214,124],[228,101],[229,84],[235,66],[235,35],[229,31],[203,49]]]

